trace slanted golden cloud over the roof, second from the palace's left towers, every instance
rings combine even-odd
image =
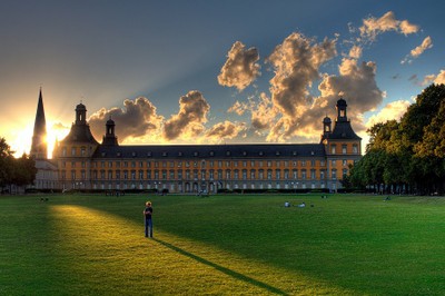
[[[194,139],[205,130],[210,105],[202,95],[192,90],[179,99],[179,112],[171,116],[164,125],[166,140]]]

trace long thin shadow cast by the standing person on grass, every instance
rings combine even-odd
[[[201,258],[201,257],[199,257],[199,256],[196,256],[196,255],[194,255],[194,254],[191,254],[191,253],[189,253],[189,251],[187,251],[187,250],[184,250],[184,249],[181,249],[181,248],[178,248],[178,247],[176,247],[176,246],[174,246],[174,245],[171,245],[171,244],[169,244],[169,243],[167,243],[167,241],[164,241],[164,240],[160,240],[160,239],[157,239],[157,238],[154,238],[154,240],[157,241],[157,243],[159,243],[159,244],[161,244],[162,246],[166,246],[166,247],[168,247],[168,248],[170,248],[170,249],[172,249],[172,250],[175,250],[175,251],[177,251],[177,253],[184,255],[184,256],[187,256],[187,257],[189,257],[189,258],[191,258],[191,259],[195,259],[195,260],[197,260],[197,262],[199,262],[199,263],[201,263],[201,264],[208,265],[208,266],[210,266],[210,267],[217,269],[218,272],[221,272],[221,273],[224,273],[224,274],[226,274],[226,275],[228,275],[228,276],[231,276],[231,277],[234,277],[234,278],[236,278],[236,279],[239,279],[239,280],[249,283],[249,284],[255,285],[255,286],[257,286],[257,287],[259,287],[259,288],[263,288],[263,289],[267,289],[267,290],[270,292],[270,293],[275,293],[275,294],[279,294],[279,295],[288,295],[287,293],[283,292],[283,290],[280,290],[280,289],[278,289],[278,288],[276,288],[276,287],[273,287],[273,286],[270,286],[270,285],[267,285],[266,283],[256,280],[256,279],[254,279],[254,278],[251,278],[251,277],[241,275],[241,274],[239,274],[239,273],[237,273],[237,272],[234,272],[234,270],[231,270],[231,269],[228,269],[228,268],[226,268],[226,267],[222,267],[222,266],[220,266],[220,265],[218,265],[218,264],[215,264],[215,263],[211,263],[211,262],[209,262],[209,260],[206,260],[206,259],[204,259],[204,258]]]

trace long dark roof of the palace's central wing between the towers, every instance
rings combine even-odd
[[[102,146],[92,158],[250,158],[325,157],[322,144]]]

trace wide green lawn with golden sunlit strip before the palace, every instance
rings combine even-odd
[[[0,295],[445,290],[441,197],[0,197]],[[144,237],[147,199],[154,239]]]

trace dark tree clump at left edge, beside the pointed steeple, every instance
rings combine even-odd
[[[36,161],[26,154],[14,158],[4,138],[0,138],[0,191],[12,193],[13,187],[31,185],[36,174]]]

